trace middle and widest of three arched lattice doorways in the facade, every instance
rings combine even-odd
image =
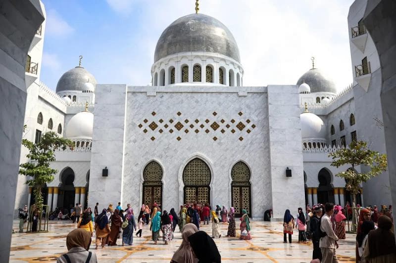
[[[210,204],[211,179],[210,169],[204,161],[199,158],[191,160],[183,170],[184,204]]]

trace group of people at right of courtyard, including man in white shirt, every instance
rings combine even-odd
[[[362,208],[357,205],[356,213],[356,262],[396,262],[395,231],[392,217],[392,206]],[[297,209],[294,217],[290,210],[285,211],[283,220],[284,243],[292,243],[293,230],[298,229],[298,243],[312,240],[312,262],[338,262],[336,249],[337,241],[346,239],[346,221],[352,218],[352,208],[326,203],[309,205],[305,212]],[[371,240],[371,242],[370,242]],[[378,245],[380,240],[386,240],[385,245]]]

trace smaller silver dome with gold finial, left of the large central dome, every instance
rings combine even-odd
[[[56,85],[56,92],[63,90],[85,91],[87,90],[87,87],[90,87],[85,85],[87,82],[93,84],[93,86],[91,86],[93,88],[89,88],[89,91],[94,92],[97,83],[94,75],[89,73],[83,67],[75,67],[65,72],[62,77],[60,77],[58,84]]]

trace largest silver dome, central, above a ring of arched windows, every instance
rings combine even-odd
[[[219,53],[241,62],[230,30],[219,20],[204,14],[190,14],[170,24],[159,37],[154,62],[181,52]]]

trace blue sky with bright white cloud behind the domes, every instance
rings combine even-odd
[[[47,12],[41,80],[55,89],[78,65],[100,84],[145,86],[156,42],[195,0],[43,0]],[[315,66],[338,89],[352,82],[347,14],[352,0],[200,0],[200,12],[233,33],[244,86],[296,84]]]

